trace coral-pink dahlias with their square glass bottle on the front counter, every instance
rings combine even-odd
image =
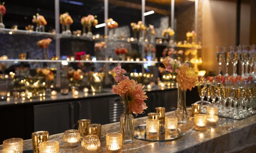
[[[121,66],[117,66],[113,69],[116,73],[114,79],[118,82],[117,85],[113,87],[111,92],[120,95],[123,98],[123,114],[120,117],[120,133],[123,134],[123,143],[133,143],[134,142],[134,118],[132,113],[143,114],[144,109],[147,108],[145,90],[143,90],[144,85],[138,84],[135,80],[130,80],[129,77],[123,75],[126,73]]]

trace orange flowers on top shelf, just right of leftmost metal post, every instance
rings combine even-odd
[[[68,12],[65,12],[60,15],[60,24],[62,25],[62,34],[71,35],[70,25],[73,24],[73,19],[71,18]]]

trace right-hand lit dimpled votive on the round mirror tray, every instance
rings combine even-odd
[[[165,117],[165,133],[177,133],[178,118],[174,116]]]

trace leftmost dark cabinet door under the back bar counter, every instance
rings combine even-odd
[[[74,102],[34,106],[34,130],[50,135],[75,128]]]

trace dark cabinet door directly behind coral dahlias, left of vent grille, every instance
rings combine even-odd
[[[109,123],[108,98],[86,99],[78,102],[78,120],[89,119],[91,123]]]

